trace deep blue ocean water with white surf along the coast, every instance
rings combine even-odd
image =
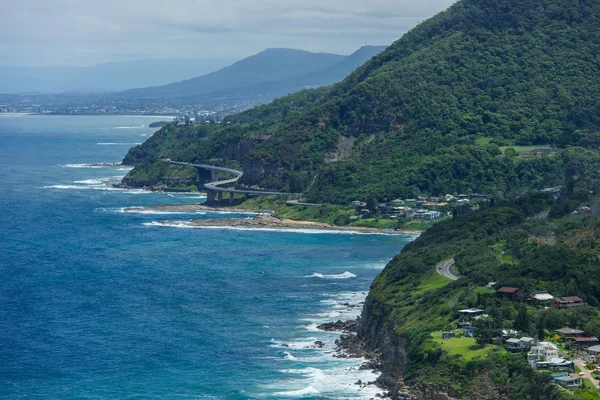
[[[0,397],[372,397],[354,382],[376,375],[315,327],[358,315],[412,238],[152,226],[248,217],[123,212],[203,201],[93,165],[156,120],[0,115]]]

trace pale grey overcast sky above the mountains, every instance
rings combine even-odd
[[[241,59],[390,44],[454,0],[0,0],[0,65]]]

